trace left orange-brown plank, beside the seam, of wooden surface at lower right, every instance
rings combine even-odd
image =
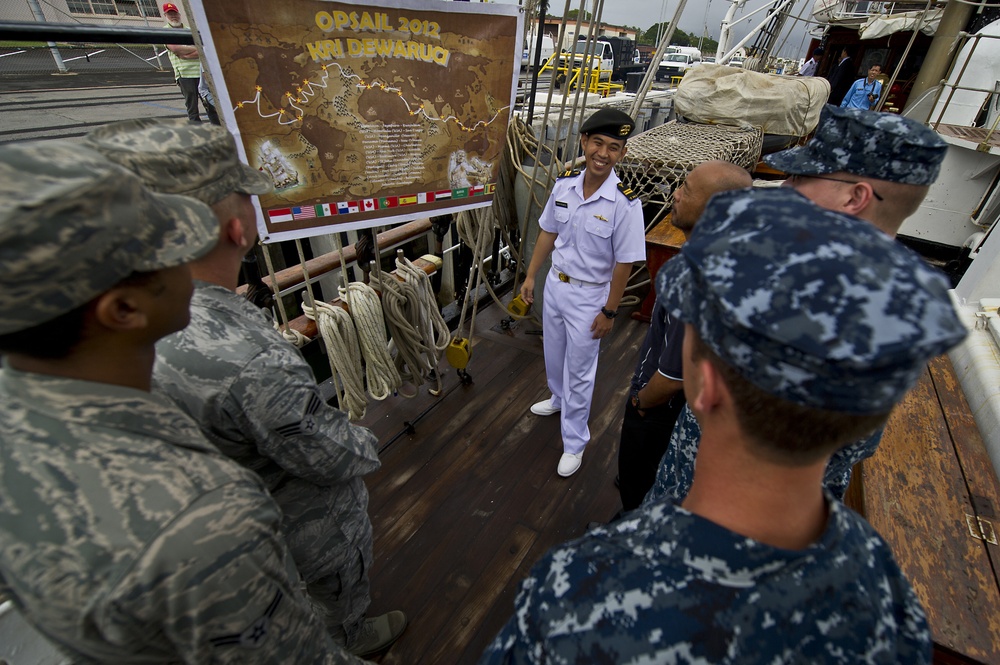
[[[947,359],[935,361],[893,411],[862,466],[864,507],[923,603],[935,643],[1000,663],[1000,596],[982,541],[969,536],[965,515],[973,509],[952,442],[953,428],[968,434],[968,423],[951,420],[961,409],[955,398],[964,400],[949,392],[957,391],[953,378]]]

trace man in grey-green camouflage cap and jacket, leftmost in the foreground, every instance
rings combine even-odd
[[[75,663],[344,663],[255,474],[151,394],[208,206],[0,147],[0,596]]]

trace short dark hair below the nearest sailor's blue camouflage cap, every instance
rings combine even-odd
[[[688,328],[691,356],[708,360],[722,376],[733,397],[740,428],[766,459],[785,466],[813,464],[885,424],[889,412],[858,415],[816,409],[766,393],[719,358]]]

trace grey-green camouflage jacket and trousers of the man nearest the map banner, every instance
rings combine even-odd
[[[156,352],[156,390],[260,474],[281,506],[309,595],[335,636],[340,629],[352,639],[370,603],[372,525],[361,476],[379,468],[375,435],[324,403],[299,351],[223,287],[196,282],[191,323]]]

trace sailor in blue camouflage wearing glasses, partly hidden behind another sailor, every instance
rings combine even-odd
[[[937,179],[946,150],[941,137],[908,118],[827,105],[809,143],[764,161],[789,174],[785,185],[817,205],[864,219],[895,237]],[[684,500],[700,436],[691,409],[683,408],[649,500]],[[823,484],[835,497],[843,499],[854,465],[874,455],[881,440],[880,428],[833,454]]]

